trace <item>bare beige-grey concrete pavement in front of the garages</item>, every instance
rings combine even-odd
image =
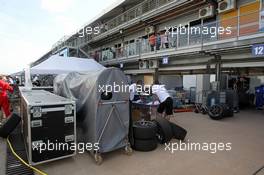
[[[188,130],[188,142],[230,142],[232,150],[172,154],[160,145],[153,152],[134,152],[132,156],[122,151],[108,153],[101,166],[85,153],[38,168],[51,175],[250,175],[264,165],[264,111],[242,111],[222,121],[213,121],[207,115],[179,113],[172,120]],[[262,171],[258,175],[261,173],[264,174]]]

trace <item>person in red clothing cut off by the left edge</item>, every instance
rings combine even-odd
[[[12,86],[4,81],[4,77],[0,76],[0,107],[5,114],[5,118],[8,118],[11,115],[7,91],[13,93],[14,90]]]

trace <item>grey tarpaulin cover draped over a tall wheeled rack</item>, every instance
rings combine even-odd
[[[128,143],[129,91],[113,92],[110,100],[101,99],[102,88],[115,84],[127,85],[125,74],[118,68],[61,74],[54,80],[56,94],[76,101],[78,140],[99,143],[101,153]]]

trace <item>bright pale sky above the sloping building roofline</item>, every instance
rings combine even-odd
[[[0,74],[23,70],[118,0],[0,0]]]

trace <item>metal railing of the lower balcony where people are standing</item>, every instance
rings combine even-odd
[[[264,36],[263,29],[262,31],[260,29],[259,15],[260,12],[255,11],[225,20],[190,26],[188,28],[189,32],[186,32],[186,34],[180,34],[178,32],[176,35],[172,35],[171,33],[167,35],[161,34],[160,38],[155,36],[154,45],[150,44],[149,38],[140,39],[134,43],[125,44],[123,47],[115,48],[113,46],[104,50],[98,50],[91,55],[99,62],[105,62],[118,58],[141,57],[142,54],[157,53],[161,50],[178,50],[179,48],[188,48],[190,46],[200,46],[202,48],[204,45],[214,44],[216,41],[225,42],[228,39],[234,39],[232,41],[236,41],[239,37],[260,33]],[[194,30],[191,27],[209,29],[209,32],[191,32],[191,29]],[[225,33],[216,31],[221,27],[225,29],[229,27],[230,32],[226,30]]]

